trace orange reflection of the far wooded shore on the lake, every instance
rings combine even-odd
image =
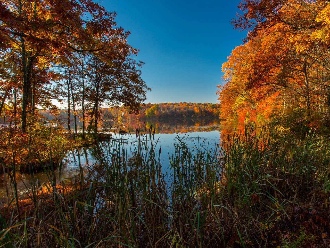
[[[155,128],[155,133],[191,133],[196,131],[215,131],[220,130],[219,119],[166,119],[166,120],[127,120],[124,125],[114,123],[115,128],[125,129],[134,132],[136,129],[143,130]]]

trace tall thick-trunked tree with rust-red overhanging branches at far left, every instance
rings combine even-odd
[[[116,28],[114,16],[90,0],[0,3],[0,46],[15,51],[20,58],[23,133],[26,132],[27,113],[33,109],[34,68],[44,70],[65,63],[62,58],[73,51],[102,50],[95,44],[95,36],[110,31],[123,33],[121,28]]]

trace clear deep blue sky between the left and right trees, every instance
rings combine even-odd
[[[112,0],[118,26],[131,32],[128,43],[140,49],[142,78],[152,91],[146,103],[217,103],[221,65],[246,32],[233,29],[240,1]]]

